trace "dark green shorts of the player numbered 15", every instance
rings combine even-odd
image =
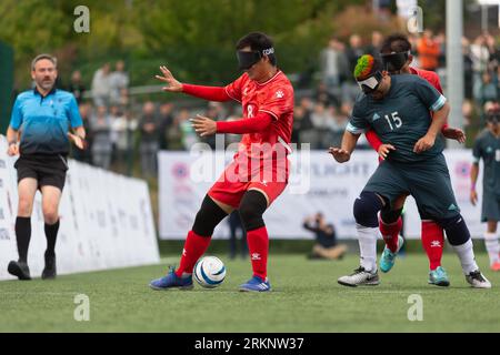
[[[411,194],[422,219],[450,219],[460,214],[442,154],[423,162],[383,161],[363,191],[374,192],[391,204],[401,194]]]

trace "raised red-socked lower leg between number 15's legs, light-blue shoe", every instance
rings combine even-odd
[[[380,257],[380,270],[388,273],[394,266],[396,256],[404,243],[400,235],[402,230],[402,209],[391,211],[390,209],[382,209],[380,212],[379,230],[382,239],[386,242],[382,256]]]

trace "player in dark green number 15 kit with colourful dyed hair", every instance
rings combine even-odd
[[[338,282],[346,286],[380,283],[378,212],[407,193],[414,197],[422,217],[443,227],[467,282],[473,287],[490,288],[491,283],[476,264],[470,232],[454,199],[442,155],[443,142],[436,139],[450,111],[447,99],[418,75],[389,75],[372,55],[358,60],[354,78],[363,93],[357,99],[341,148],[330,148],[330,153],[340,163],[349,161],[359,135],[369,129],[394,150],[379,164],[354,201],[360,267]]]

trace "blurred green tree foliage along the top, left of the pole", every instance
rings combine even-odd
[[[158,65],[181,80],[221,83],[237,74],[234,43],[250,31],[271,34],[279,65],[311,67],[336,29],[333,17],[363,0],[87,0],[90,33],[76,33],[79,0],[0,1],[0,40],[16,50],[16,78],[29,81],[40,52],[60,59],[61,74],[74,68],[86,80],[104,61],[126,59],[132,84],[153,83]]]

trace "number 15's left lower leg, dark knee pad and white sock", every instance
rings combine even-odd
[[[377,213],[382,209],[381,199],[373,192],[361,192],[354,201],[356,229],[360,250],[360,266],[350,275],[341,276],[338,283],[343,286],[378,285],[377,236],[379,221]]]

